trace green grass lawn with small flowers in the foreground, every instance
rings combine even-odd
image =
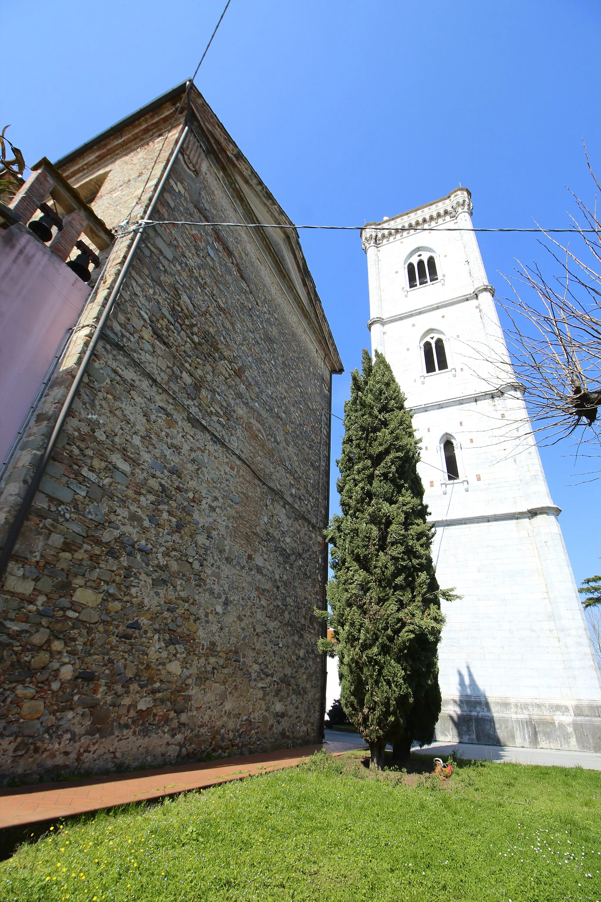
[[[323,754],[66,824],[3,900],[601,900],[601,773],[463,763],[448,783]]]

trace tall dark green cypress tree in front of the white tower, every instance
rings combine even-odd
[[[444,617],[417,473],[419,443],[405,397],[376,352],[362,354],[344,406],[337,461],[341,516],[330,521],[328,585],[341,703],[381,768],[387,742],[408,758],[413,741],[432,741],[441,712],[438,644]]]

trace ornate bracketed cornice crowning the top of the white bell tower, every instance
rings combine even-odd
[[[379,223],[369,223],[361,229],[363,250],[367,253],[368,248],[374,245],[378,247],[391,241],[398,241],[406,235],[453,222],[460,213],[469,213],[471,216],[473,209],[469,189],[455,189],[446,198],[423,204],[422,207],[414,207],[413,210]]]

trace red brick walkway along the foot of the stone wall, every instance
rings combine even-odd
[[[33,787],[0,790],[0,829],[35,824],[40,821],[82,815],[99,808],[127,805],[172,796],[187,789],[215,786],[270,770],[294,768],[321,745],[300,749],[272,751],[256,755],[188,764],[159,770],[139,770],[110,777],[70,780],[68,783],[41,783]],[[348,745],[327,743],[334,753],[348,750]]]

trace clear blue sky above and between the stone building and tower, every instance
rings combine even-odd
[[[3,48],[8,135],[30,162],[59,158],[189,76],[222,9],[30,0]],[[0,13],[14,21],[13,4]],[[565,186],[591,197],[582,136],[601,172],[600,26],[593,0],[232,0],[196,84],[296,222],[369,222],[461,182],[474,225],[563,226]],[[341,415],[369,345],[365,256],[357,234],[301,240],[346,370]],[[479,241],[499,294],[514,258],[544,261],[531,236]],[[579,581],[601,568],[601,483],[572,486],[569,452],[542,458]]]

